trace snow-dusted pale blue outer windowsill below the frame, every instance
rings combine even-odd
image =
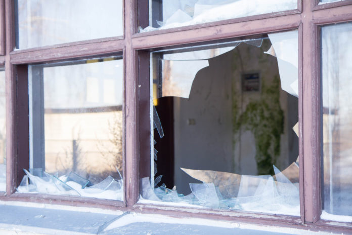
[[[307,230],[158,214],[0,202],[0,234],[307,234]],[[323,232],[324,233],[324,232]],[[315,234],[310,231],[309,234]],[[318,234],[318,232],[317,232]],[[321,234],[321,233],[319,233]],[[330,234],[330,233],[329,233]]]

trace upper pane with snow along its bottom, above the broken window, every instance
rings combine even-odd
[[[140,32],[297,9],[297,0],[149,0],[147,4],[139,5],[140,12],[149,8],[149,21],[140,19]]]

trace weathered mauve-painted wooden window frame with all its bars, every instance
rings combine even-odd
[[[54,46],[14,50],[14,6],[12,0],[0,0],[0,65],[6,72],[7,189],[3,201],[54,203],[89,206],[122,211],[194,216],[288,226],[311,230],[350,232],[351,223],[320,219],[321,202],[321,26],[352,22],[352,0],[318,5],[319,0],[298,0],[296,10],[242,17],[138,33],[138,5],[148,0],[123,1],[124,35]],[[144,13],[145,14],[145,13]],[[149,130],[149,53],[153,49],[239,38],[263,33],[298,29],[299,74],[299,176],[300,217],[157,206],[138,203],[139,179],[145,168],[143,154],[150,154]],[[5,33],[4,33],[5,32]],[[5,36],[4,36],[5,34]],[[14,193],[28,153],[28,64],[123,55],[124,62],[124,201],[72,198],[58,195]]]

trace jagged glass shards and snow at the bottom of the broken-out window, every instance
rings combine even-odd
[[[298,175],[298,166],[293,163],[290,175],[280,172],[276,175],[237,175],[228,172],[182,169],[203,183],[190,183],[191,193],[178,193],[175,187],[169,189],[162,184],[154,189],[150,179],[141,179],[140,202],[171,202],[212,209],[274,212],[299,215],[299,185],[292,183]],[[295,166],[295,167],[293,167]],[[298,179],[296,179],[298,180]],[[148,200],[148,201],[145,201]]]

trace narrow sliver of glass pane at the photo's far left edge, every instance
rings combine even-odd
[[[6,191],[6,95],[5,71],[0,68],[0,191]]]

